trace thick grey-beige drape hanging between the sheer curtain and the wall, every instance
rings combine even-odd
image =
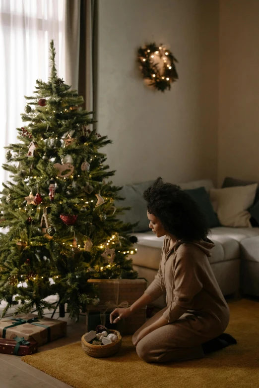
[[[95,111],[97,90],[97,0],[66,0],[66,80]],[[95,113],[94,113],[95,117]]]

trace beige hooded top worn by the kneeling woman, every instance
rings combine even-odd
[[[166,293],[168,323],[192,313],[210,327],[227,327],[229,307],[212,272],[208,257],[215,244],[209,240],[177,240],[169,250],[170,237],[162,248],[159,270],[145,293],[157,299]]]

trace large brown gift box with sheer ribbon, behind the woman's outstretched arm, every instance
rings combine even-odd
[[[99,312],[99,325],[103,325],[104,320],[107,321],[106,316],[104,316],[106,313],[109,313],[108,322],[110,323],[110,313],[116,307],[130,307],[143,295],[147,285],[144,279],[89,279],[88,282],[98,286],[97,295],[100,299],[100,304],[97,306],[87,305],[87,310],[88,312]],[[86,314],[86,328],[89,327],[88,319],[89,314]],[[117,330],[122,334],[133,334],[145,322],[146,306],[119,322]]]

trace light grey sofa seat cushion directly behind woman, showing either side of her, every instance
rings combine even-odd
[[[215,247],[211,250],[212,256],[208,258],[209,263],[237,259],[240,254],[238,241],[224,234],[216,234],[214,239],[213,230],[214,228],[211,229],[212,235],[209,238],[214,242]],[[133,264],[158,270],[165,236],[158,238],[153,232],[134,233],[134,236],[138,238],[137,253],[129,256]]]

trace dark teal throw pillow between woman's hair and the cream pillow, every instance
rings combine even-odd
[[[220,226],[218,217],[213,210],[209,199],[209,194],[207,193],[205,187],[202,186],[198,187],[197,189],[183,191],[189,194],[199,206],[201,212],[204,214],[207,220],[209,227]]]

